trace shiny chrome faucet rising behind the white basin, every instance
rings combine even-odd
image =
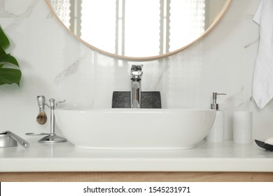
[[[141,78],[143,64],[132,64],[131,68],[131,108],[140,109],[141,107]]]

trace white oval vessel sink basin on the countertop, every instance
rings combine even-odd
[[[214,110],[57,109],[59,130],[77,148],[188,149],[207,136]]]

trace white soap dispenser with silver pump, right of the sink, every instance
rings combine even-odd
[[[214,125],[212,125],[209,134],[206,137],[207,141],[221,142],[224,140],[224,112],[219,110],[219,104],[217,104],[217,95],[226,95],[225,93],[212,93],[211,109],[216,110],[216,116]]]

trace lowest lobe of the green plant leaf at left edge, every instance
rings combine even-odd
[[[0,69],[0,85],[16,83],[20,86],[22,72],[20,69],[1,68]]]

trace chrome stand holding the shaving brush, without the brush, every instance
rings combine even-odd
[[[50,109],[50,134],[48,134],[46,137],[43,137],[42,139],[40,139],[38,142],[42,142],[42,143],[60,143],[60,142],[66,142],[67,140],[59,137],[55,134],[55,115],[54,115],[54,110],[57,108],[58,104],[62,104],[64,103],[64,101],[62,102],[57,102],[55,103],[55,99],[49,99],[49,105],[45,104],[46,106],[48,106],[48,109]]]

